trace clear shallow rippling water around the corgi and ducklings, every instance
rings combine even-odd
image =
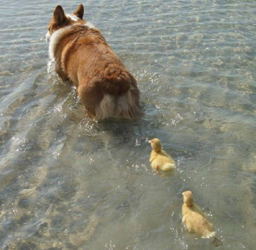
[[[218,249],[254,249],[255,1],[84,2],[137,78],[145,111],[99,123],[47,66],[58,3],[1,1],[0,249],[209,250],[181,223],[188,189]],[[151,171],[152,137],[176,160],[173,175]]]

